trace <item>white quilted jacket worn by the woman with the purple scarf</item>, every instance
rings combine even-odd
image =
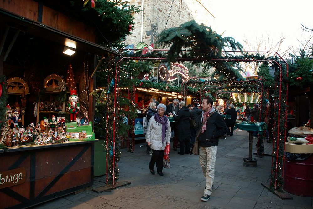
[[[171,126],[167,119],[168,127],[165,134],[166,143],[171,142]],[[162,144],[162,124],[156,122],[154,117],[151,117],[148,122],[146,142],[150,142],[150,147],[153,150],[164,150],[166,143]]]

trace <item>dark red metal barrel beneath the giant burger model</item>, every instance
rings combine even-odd
[[[313,156],[306,160],[285,158],[284,190],[300,196],[313,196]]]

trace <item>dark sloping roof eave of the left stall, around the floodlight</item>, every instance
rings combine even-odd
[[[99,44],[92,43],[85,39],[71,35],[69,33],[60,31],[53,27],[44,25],[40,22],[36,22],[25,17],[21,17],[17,14],[13,14],[0,8],[0,24],[12,27],[22,32],[27,32],[34,36],[40,36],[47,40],[63,44],[66,41],[76,42],[76,50],[84,51],[86,53],[94,53],[97,55],[103,55],[104,53],[110,53],[119,56],[120,53],[113,51],[107,47],[103,47]]]

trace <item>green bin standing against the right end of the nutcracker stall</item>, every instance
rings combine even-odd
[[[102,176],[106,172],[106,150],[103,146],[105,141],[99,139],[95,142],[95,155],[94,155],[94,164],[93,164],[93,176]]]

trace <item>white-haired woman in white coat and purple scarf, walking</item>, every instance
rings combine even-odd
[[[151,147],[152,156],[149,163],[149,169],[152,175],[154,172],[154,164],[156,163],[157,172],[163,176],[163,155],[166,145],[170,144],[171,126],[169,119],[164,115],[166,106],[159,104],[157,114],[150,118],[146,133],[146,142]]]

